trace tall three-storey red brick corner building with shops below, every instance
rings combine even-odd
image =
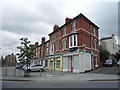
[[[99,67],[99,27],[83,14],[54,25],[49,34],[48,68],[81,73]]]

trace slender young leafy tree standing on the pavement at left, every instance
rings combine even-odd
[[[30,41],[28,41],[28,38],[21,38],[21,46],[18,46],[17,49],[20,50],[20,53],[17,53],[18,55],[18,61],[21,63],[30,65],[30,60],[35,55],[33,50],[34,47],[30,46]],[[28,68],[27,68],[27,74],[25,76],[29,76]]]

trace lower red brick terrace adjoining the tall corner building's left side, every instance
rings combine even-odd
[[[39,45],[38,42],[35,43],[35,56],[33,57],[31,64],[42,64],[45,67],[48,66],[48,45],[49,40],[45,41],[45,37],[41,39],[41,44]]]

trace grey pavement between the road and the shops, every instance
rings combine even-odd
[[[6,71],[7,69],[7,71]],[[100,68],[101,69],[101,68]],[[71,73],[61,71],[46,70],[45,72],[31,72],[30,77],[24,77],[22,70],[16,70],[14,67],[2,68],[2,80],[5,81],[99,81],[99,80],[118,80],[120,75],[100,74],[100,73]],[[7,72],[7,74],[6,74]],[[16,73],[15,73],[16,72]]]

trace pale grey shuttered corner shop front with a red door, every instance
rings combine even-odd
[[[91,53],[70,52],[63,55],[63,71],[80,73],[92,69]]]

